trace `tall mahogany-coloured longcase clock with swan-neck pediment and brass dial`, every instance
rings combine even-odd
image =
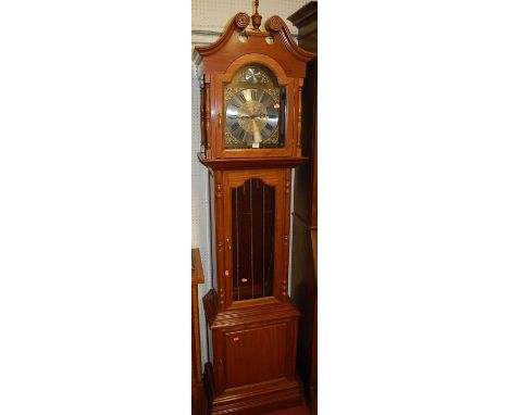
[[[197,47],[200,162],[211,189],[213,288],[203,297],[212,414],[298,405],[299,312],[288,299],[291,168],[300,151],[301,88],[314,54],[278,16],[237,13]],[[248,28],[251,23],[251,27]]]

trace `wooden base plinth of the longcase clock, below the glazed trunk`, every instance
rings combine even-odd
[[[211,413],[263,414],[300,404],[295,379],[297,309],[265,299],[220,312],[215,290],[203,303],[216,362],[209,362],[204,373]]]

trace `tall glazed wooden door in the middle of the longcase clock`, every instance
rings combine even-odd
[[[224,178],[226,306],[278,299],[284,172],[225,172]]]

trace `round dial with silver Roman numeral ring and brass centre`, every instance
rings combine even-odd
[[[248,146],[268,140],[277,128],[280,105],[263,89],[243,89],[226,105],[227,127],[237,140]]]

